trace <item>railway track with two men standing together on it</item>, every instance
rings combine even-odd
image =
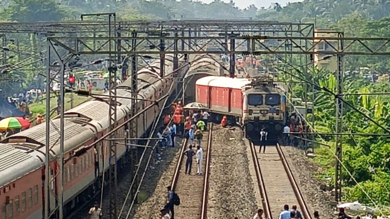
[[[203,175],[197,175],[197,163],[193,157],[191,175],[184,174],[186,157],[184,151],[188,148],[188,141],[183,142],[179,161],[172,179],[172,189],[180,197],[180,205],[175,206],[175,218],[206,219],[207,196],[210,174],[211,140],[213,124],[210,123],[208,135],[204,134],[201,147],[203,148]],[[196,153],[196,148],[194,150]]]

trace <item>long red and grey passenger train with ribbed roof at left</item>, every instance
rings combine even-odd
[[[167,56],[166,59],[173,59]],[[173,71],[172,61],[165,62],[165,74]],[[179,67],[186,65],[181,60]],[[188,67],[180,68],[177,77],[183,77]],[[155,101],[166,94],[172,94],[170,85],[176,83],[173,75],[161,78],[160,60],[152,62],[149,67],[137,72],[138,87],[141,88],[138,97]],[[124,81],[117,87],[117,96],[131,97],[131,79]],[[151,101],[137,101],[137,110],[140,111]],[[123,124],[130,118],[131,100],[117,98],[118,124]],[[161,101],[138,117],[138,133],[147,132],[154,119],[163,107]],[[78,150],[101,138],[108,131],[108,103],[94,99],[85,102],[76,108],[65,112],[64,159],[77,155]],[[58,195],[58,154],[59,154],[59,127],[60,119],[51,120],[50,129],[50,189]],[[117,138],[126,138],[127,125],[117,132]],[[40,219],[43,218],[44,200],[44,160],[46,124],[36,125],[6,138],[0,143],[0,218],[2,219]],[[117,145],[118,168],[129,161],[128,147]],[[108,149],[106,141],[97,143],[73,159],[64,163],[64,214],[69,215],[75,208],[85,203],[100,189],[103,171],[108,171]],[[104,168],[103,168],[104,166]],[[108,174],[106,175],[108,176]],[[50,194],[50,209],[57,203]]]

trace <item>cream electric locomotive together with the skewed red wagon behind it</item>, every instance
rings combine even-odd
[[[223,115],[245,128],[246,138],[256,140],[261,129],[269,138],[283,132],[286,96],[272,78],[257,79],[207,76],[196,81],[196,102],[212,113],[216,122]]]

